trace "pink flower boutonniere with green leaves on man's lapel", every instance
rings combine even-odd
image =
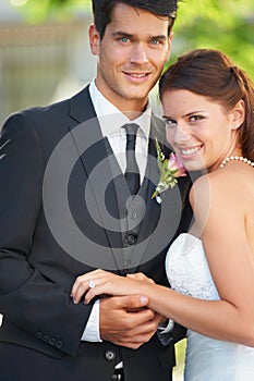
[[[152,198],[156,198],[157,202],[161,204],[160,194],[167,190],[168,188],[172,189],[177,185],[178,179],[186,176],[186,173],[182,161],[177,155],[171,152],[168,159],[165,158],[165,155],[159,146],[157,138],[156,149],[160,176],[155,192],[152,195]]]

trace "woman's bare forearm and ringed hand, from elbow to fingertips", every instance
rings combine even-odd
[[[90,279],[95,284],[93,288],[88,286]],[[126,279],[104,270],[95,270],[77,280],[72,293],[76,295],[75,303],[80,302],[77,295],[82,296],[84,290],[88,291],[85,303],[100,294],[136,294],[141,299],[148,297],[150,309],[189,329],[214,339],[254,346],[254,337],[250,331],[253,321],[244,323],[241,311],[229,302],[201,300],[158,284]]]

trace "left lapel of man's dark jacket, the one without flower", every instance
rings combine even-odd
[[[121,171],[107,139],[102,137],[99,122],[89,97],[88,88],[72,98],[70,115],[74,123],[69,128],[78,152],[87,183],[86,200],[97,208],[93,216],[97,216],[97,223],[104,228],[108,245],[114,257],[116,268],[123,268],[119,208],[116,202],[117,192],[114,181]],[[107,186],[108,185],[108,186]],[[110,211],[110,213],[109,213]]]

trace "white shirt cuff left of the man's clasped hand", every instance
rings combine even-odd
[[[89,319],[86,323],[81,341],[94,343],[102,342],[99,334],[99,299],[97,299],[94,303]]]

